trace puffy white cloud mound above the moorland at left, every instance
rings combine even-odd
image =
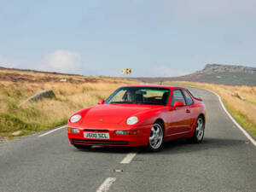
[[[70,50],[55,50],[39,62],[39,69],[60,73],[79,73],[83,68],[82,56]]]

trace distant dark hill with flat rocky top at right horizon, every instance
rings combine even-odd
[[[180,77],[136,79],[148,83],[160,81],[192,81],[211,84],[256,86],[256,67],[207,64],[201,71]]]

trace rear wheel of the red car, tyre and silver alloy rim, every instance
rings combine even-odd
[[[205,121],[202,116],[196,120],[195,131],[190,141],[192,143],[201,143],[205,135]]]

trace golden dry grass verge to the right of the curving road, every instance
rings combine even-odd
[[[170,83],[170,82],[169,82]],[[226,107],[235,119],[256,136],[256,87],[204,84],[194,82],[172,82],[207,88],[222,97]]]

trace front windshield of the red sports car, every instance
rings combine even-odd
[[[170,90],[158,87],[121,87],[104,103],[167,105]]]

